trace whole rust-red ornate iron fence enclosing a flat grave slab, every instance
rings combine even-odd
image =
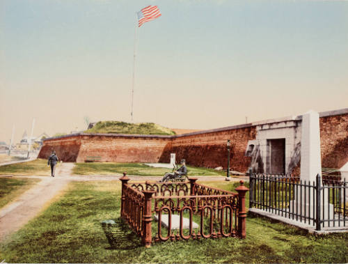
[[[242,181],[237,194],[200,185],[196,178],[187,183],[128,183],[124,173],[120,180],[121,217],[141,236],[145,247],[166,240],[246,236],[248,188]],[[152,225],[152,216],[157,225]]]

